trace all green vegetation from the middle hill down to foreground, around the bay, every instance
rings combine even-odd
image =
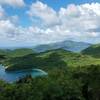
[[[9,71],[41,68],[48,72],[13,84],[0,81],[0,100],[100,100],[99,58],[63,49],[0,58]]]

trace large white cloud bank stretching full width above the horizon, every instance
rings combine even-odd
[[[40,1],[33,3],[28,14],[41,19],[39,25],[24,28],[16,26],[12,19],[0,21],[0,41],[19,44],[41,44],[66,39],[100,42],[100,3],[68,5],[55,11]],[[34,19],[35,20],[35,19]]]

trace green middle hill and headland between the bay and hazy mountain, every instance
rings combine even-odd
[[[77,67],[100,64],[100,59],[84,56],[63,49],[34,53],[16,58],[9,58],[3,62],[7,70],[29,68],[49,69],[53,67]]]

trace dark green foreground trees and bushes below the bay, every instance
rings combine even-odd
[[[0,82],[0,100],[100,100],[100,66],[54,68],[46,77]]]

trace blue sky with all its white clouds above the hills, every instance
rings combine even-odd
[[[100,43],[100,0],[0,0],[0,47],[65,40]]]

